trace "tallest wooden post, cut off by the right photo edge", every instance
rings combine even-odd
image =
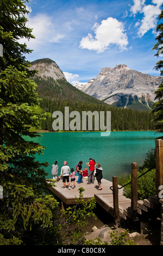
[[[159,197],[159,186],[163,185],[163,140],[155,141],[155,160],[156,160],[156,196]]]

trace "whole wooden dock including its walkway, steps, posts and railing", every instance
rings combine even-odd
[[[62,180],[60,180],[55,183],[56,186],[49,187],[49,189],[61,200],[62,208],[65,208],[66,205],[76,204],[76,198],[79,198],[79,188],[83,187],[83,199],[89,200],[94,197],[96,202],[101,205],[108,214],[115,218],[115,227],[117,227],[118,222],[126,223],[126,221],[139,221],[142,230],[144,227],[143,220],[148,221],[153,216],[158,217],[158,220],[162,220],[163,223],[162,217],[160,218],[160,205],[162,204],[162,199],[159,199],[159,186],[163,183],[163,140],[156,139],[155,145],[156,194],[148,199],[137,199],[137,182],[142,175],[146,175],[146,173],[151,171],[154,167],[138,176],[138,167],[135,162],[131,163],[131,182],[129,182],[131,184],[131,199],[123,196],[123,188],[118,185],[116,176],[112,177],[112,181],[102,179],[102,190],[98,190],[96,179],[94,184],[87,184],[87,179],[83,179],[82,184],[78,184],[77,174],[75,188],[70,187],[70,190],[68,190],[68,185],[66,183],[67,189],[65,190],[64,184]],[[124,186],[127,186],[128,184]],[[110,187],[112,189],[110,189]]]

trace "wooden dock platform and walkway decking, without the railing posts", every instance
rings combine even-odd
[[[76,187],[70,187],[68,190],[68,185],[66,183],[66,190],[62,180],[55,183],[55,187],[49,187],[60,200],[62,204],[62,209],[65,209],[67,205],[76,204],[76,197],[79,198],[79,187],[84,188],[83,199],[89,200],[92,197],[95,197],[96,202],[102,206],[104,210],[108,212],[112,217],[115,217],[114,212],[114,197],[110,187],[112,182],[106,179],[102,179],[102,190],[97,190],[98,184],[95,180],[94,184],[87,184],[87,180],[83,179],[83,183],[77,183],[78,176],[76,176]],[[118,185],[118,187],[121,187]],[[137,214],[142,215],[151,211],[151,205],[158,204],[158,198],[156,196],[151,197],[150,199],[139,200],[137,207]],[[126,220],[134,219],[133,210],[131,209],[131,199],[123,196],[123,188],[118,190],[118,216],[117,221],[123,222]]]

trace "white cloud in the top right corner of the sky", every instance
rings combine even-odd
[[[145,0],[133,0],[134,5],[131,6],[131,14],[135,16],[136,13],[143,14],[141,21],[136,22],[135,27],[139,27],[137,35],[142,37],[150,29],[155,31],[157,18],[161,13],[160,6],[163,4],[163,0],[152,0],[151,4],[146,5]]]

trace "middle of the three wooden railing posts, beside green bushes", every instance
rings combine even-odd
[[[137,163],[131,163],[131,209],[137,211]]]

